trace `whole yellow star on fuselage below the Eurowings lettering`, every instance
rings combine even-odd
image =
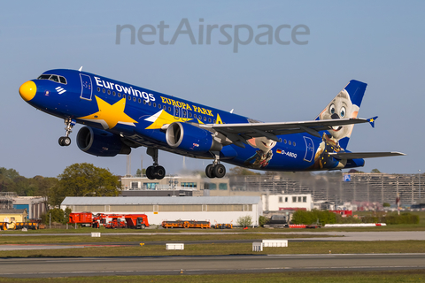
[[[117,103],[110,104],[97,96],[95,97],[99,111],[88,116],[80,117],[79,119],[101,123],[104,129],[112,129],[118,123],[135,126],[133,123],[137,123],[137,121],[124,113],[124,109],[126,108],[125,98],[122,98]]]

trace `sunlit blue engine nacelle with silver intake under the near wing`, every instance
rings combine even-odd
[[[220,142],[214,141],[210,132],[181,122],[174,122],[166,128],[166,143],[174,149],[199,153],[223,148]]]

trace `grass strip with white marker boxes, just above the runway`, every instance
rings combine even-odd
[[[84,249],[4,250],[1,257],[92,257],[92,256],[217,256],[282,254],[386,254],[425,253],[425,241],[303,241],[287,248],[265,248],[252,252],[252,243],[186,244],[184,250],[166,250],[165,245],[134,244],[127,247],[85,247]]]

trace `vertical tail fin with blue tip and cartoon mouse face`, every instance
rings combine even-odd
[[[350,80],[348,85],[339,92],[328,106],[321,111],[316,120],[357,118],[361,100],[366,91],[367,84],[359,80]],[[347,148],[352,128],[354,125],[336,126],[328,130],[330,138],[339,143],[343,149]]]

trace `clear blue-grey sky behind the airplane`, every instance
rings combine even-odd
[[[56,177],[70,164],[87,162],[126,174],[126,156],[94,157],[78,149],[76,142],[60,147],[63,120],[35,110],[19,96],[19,86],[44,71],[77,70],[82,65],[89,73],[234,109],[265,122],[312,120],[350,80],[361,80],[367,91],[359,117],[379,119],[375,128],[355,126],[348,149],[400,151],[406,157],[367,159],[360,170],[423,172],[424,8],[422,1],[4,2],[0,167],[27,178]],[[182,22],[189,23],[196,44],[189,34],[178,34],[170,44]],[[121,32],[117,44],[119,25],[131,25],[136,33],[142,29],[140,37],[152,44],[138,36],[131,44],[129,29]],[[143,25],[157,27],[157,34],[143,34],[150,31]],[[164,34],[159,25],[168,26]],[[206,44],[207,25],[229,25],[230,44],[223,44],[228,38],[219,28]],[[260,25],[274,31],[287,26],[278,39],[273,34],[271,44],[261,45],[255,42],[265,31]],[[298,25],[302,27],[295,31],[300,34],[294,41],[291,32]],[[302,34],[305,27],[309,34]],[[237,39],[246,43],[235,45]],[[267,42],[267,37],[260,41]],[[80,128],[74,126],[73,141]],[[130,157],[132,174],[142,160],[144,168],[151,164],[145,148],[133,149]],[[204,171],[209,163],[184,160],[189,170]],[[167,173],[179,173],[183,157],[160,151],[159,164]]]

